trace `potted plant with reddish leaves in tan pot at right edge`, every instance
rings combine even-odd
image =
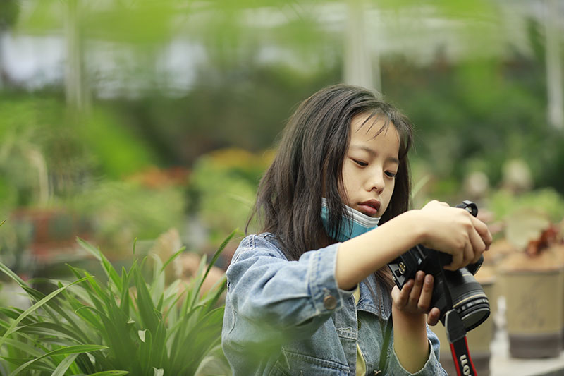
[[[525,223],[527,222],[527,223]],[[562,238],[557,226],[531,218],[508,223],[508,235],[521,252],[499,267],[505,297],[510,355],[546,358],[560,355],[564,315]]]

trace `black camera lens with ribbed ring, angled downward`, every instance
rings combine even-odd
[[[482,285],[467,269],[445,270],[444,272],[446,287],[453,299],[453,308],[458,311],[466,330],[470,331],[488,318],[490,313],[488,297]],[[441,298],[435,306],[441,310],[441,321],[444,324],[444,315],[448,310],[448,305],[442,292],[438,294]]]

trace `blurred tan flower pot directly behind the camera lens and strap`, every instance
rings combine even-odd
[[[468,348],[470,349],[470,356],[472,358],[472,363],[474,363],[474,368],[480,376],[489,376],[490,366],[489,361],[491,358],[490,344],[491,340],[494,338],[494,314],[496,312],[496,291],[495,291],[495,277],[494,272],[489,267],[482,267],[477,274],[476,279],[482,285],[484,293],[488,297],[490,304],[490,315],[486,321],[482,322],[482,325],[472,329],[467,333],[466,339],[468,341]],[[436,327],[431,328],[433,332],[439,337],[441,341],[440,359],[441,365],[446,370],[448,375],[456,375],[456,369],[453,362],[453,357],[450,353],[450,344],[448,344],[448,339],[446,339],[446,331],[443,325],[436,325]]]

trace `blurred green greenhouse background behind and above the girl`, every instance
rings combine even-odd
[[[415,123],[414,204],[563,219],[559,1],[0,2],[0,257],[24,276],[176,227],[243,229],[277,135],[321,87]],[[236,242],[236,241],[235,241]],[[223,260],[219,266],[225,267]]]

